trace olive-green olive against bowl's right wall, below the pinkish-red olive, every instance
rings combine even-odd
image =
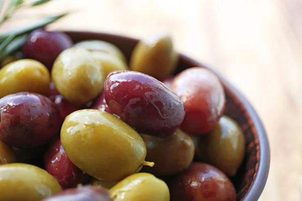
[[[245,136],[234,120],[222,116],[206,136],[195,137],[196,157],[234,176],[245,155]]]

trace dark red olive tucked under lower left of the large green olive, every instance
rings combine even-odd
[[[86,183],[90,178],[70,161],[60,138],[50,145],[44,161],[46,171],[59,182],[62,188],[76,187],[80,183]]]

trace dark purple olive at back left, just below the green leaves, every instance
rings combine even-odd
[[[51,70],[56,57],[72,45],[70,37],[62,32],[47,32],[44,29],[36,29],[30,33],[23,45],[22,53],[25,58],[40,61]]]

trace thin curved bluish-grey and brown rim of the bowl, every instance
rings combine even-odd
[[[81,36],[81,38],[87,37],[88,40],[91,39],[97,40],[99,38],[105,38],[105,39],[116,38],[123,41],[129,41],[132,43],[137,43],[139,41],[138,39],[134,39],[128,36],[122,36],[118,34],[109,34],[109,33],[92,32],[92,31],[72,31],[72,30],[59,30],[59,31],[65,32],[68,36],[71,37],[71,39],[77,38],[76,36],[78,37]],[[257,158],[259,158],[258,167],[256,164],[255,167],[256,171],[255,171],[254,179],[252,181],[252,185],[250,186],[248,192],[246,193],[246,195],[243,197],[242,200],[243,201],[258,200],[266,184],[268,173],[269,173],[269,167],[270,167],[269,142],[268,142],[266,131],[264,129],[264,126],[259,116],[257,115],[252,105],[249,103],[247,98],[235,86],[233,86],[233,84],[231,84],[218,72],[213,70],[213,68],[209,67],[209,65],[205,65],[203,63],[197,62],[194,59],[185,56],[183,54],[179,54],[179,55],[180,55],[180,62],[184,62],[190,66],[202,66],[212,70],[219,77],[220,81],[224,85],[225,90],[229,92],[229,94],[232,96],[235,102],[237,102],[238,105],[241,107],[241,110],[245,113],[245,117],[248,119],[251,129],[255,130],[255,133],[257,134],[256,137],[258,137],[258,139],[255,139],[255,141],[258,141],[257,143],[259,144],[259,150],[257,152],[258,155]]]

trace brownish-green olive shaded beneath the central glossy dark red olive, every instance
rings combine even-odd
[[[193,140],[179,129],[166,138],[144,134],[141,134],[141,137],[147,148],[146,160],[155,163],[154,167],[144,166],[144,172],[156,176],[176,174],[188,168],[194,158]]]

